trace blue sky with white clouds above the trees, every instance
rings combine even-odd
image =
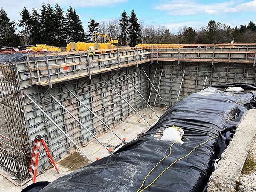
[[[165,26],[173,33],[182,26],[198,29],[209,20],[231,27],[247,25],[250,20],[256,23],[256,0],[0,0],[0,7],[17,23],[24,6],[41,9],[43,2],[58,3],[65,10],[71,5],[85,29],[90,18],[97,22],[120,18],[122,11],[130,15],[132,9],[145,25]]]

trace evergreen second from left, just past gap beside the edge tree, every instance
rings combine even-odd
[[[23,27],[22,31],[20,31],[20,44],[22,45],[30,45],[33,42],[33,39],[30,36],[32,19],[29,13],[29,10],[26,7],[20,12],[21,20],[19,20],[18,26]]]

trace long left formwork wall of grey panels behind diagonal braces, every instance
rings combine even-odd
[[[56,84],[51,90],[48,90],[55,98],[70,110],[76,118],[78,118],[93,134],[102,133],[103,126],[98,119],[72,96],[64,88],[77,91],[76,95],[84,102],[94,113],[96,113],[107,125],[113,127],[125,120],[126,117],[134,113],[133,110],[120,97],[114,93],[103,79],[110,82],[111,85],[119,91],[119,93],[137,110],[145,107],[145,102],[136,90],[128,82],[123,75],[129,74],[128,77],[136,84],[140,93],[146,97],[146,79],[142,74],[140,67],[128,67],[116,72],[103,73],[99,76],[92,76],[92,79],[79,79],[69,81],[66,85]],[[111,81],[109,81],[111,79]],[[85,83],[85,84],[84,84]],[[84,87],[81,85],[84,84]],[[35,93],[33,99],[38,100],[38,94]],[[53,158],[58,160],[74,150],[73,144],[53,125],[34,105],[24,97],[26,116],[28,122],[29,134],[31,141],[35,140],[35,136],[41,134],[49,145],[49,149],[53,154]],[[92,136],[76,122],[60,105],[52,101],[52,98],[46,94],[40,102],[42,108],[54,121],[63,128],[64,131],[77,143],[83,145],[92,139]],[[47,163],[48,159],[45,153],[39,157],[39,165]],[[48,165],[48,163],[47,163]]]

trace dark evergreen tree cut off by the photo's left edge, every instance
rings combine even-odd
[[[18,35],[15,34],[15,22],[10,21],[3,7],[0,9],[0,45],[15,46],[19,44]]]

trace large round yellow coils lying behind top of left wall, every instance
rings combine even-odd
[[[104,51],[104,49],[116,49],[116,46],[110,43],[85,43],[85,42],[70,42],[67,44],[66,51],[87,51],[92,46],[94,50],[101,50],[99,53],[116,52],[116,50]],[[96,52],[97,53],[97,52]]]

